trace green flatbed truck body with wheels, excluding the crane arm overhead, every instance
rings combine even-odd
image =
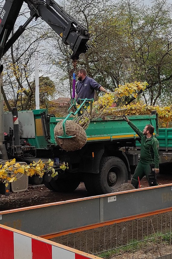
[[[153,125],[155,134],[158,134],[156,114],[132,115],[129,118],[140,129],[147,124]],[[139,136],[122,116],[103,116],[91,121],[86,129],[87,143],[76,151],[62,150],[56,144],[54,127],[63,119],[49,115],[46,109],[18,112],[21,147],[23,145],[23,155],[18,159],[30,163],[40,158],[51,158],[68,163],[68,169],[59,170],[58,178],[49,177],[44,181],[47,188],[69,192],[74,191],[82,181],[90,194],[105,194],[131,178],[138,163],[139,151],[135,142]],[[10,134],[10,129],[13,131],[10,112],[4,113],[4,124],[5,132]],[[8,141],[5,146],[8,154],[12,154]]]

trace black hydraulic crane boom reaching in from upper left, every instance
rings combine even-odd
[[[30,9],[30,17],[9,38],[23,3]],[[6,0],[0,13],[0,59],[35,18],[43,19],[72,49],[71,58],[77,60],[88,49],[89,32],[54,0]]]

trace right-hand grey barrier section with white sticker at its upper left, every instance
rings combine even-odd
[[[144,214],[172,207],[172,187],[152,188],[142,191],[119,193],[114,201],[111,197],[100,198],[101,222]]]

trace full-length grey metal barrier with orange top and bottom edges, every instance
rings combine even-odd
[[[0,212],[0,223],[37,236],[81,227],[113,224],[118,219],[172,207],[172,184]],[[76,231],[77,232],[77,231]],[[54,235],[54,236],[55,236]]]

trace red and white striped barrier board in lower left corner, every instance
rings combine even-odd
[[[99,258],[0,224],[0,259]]]

